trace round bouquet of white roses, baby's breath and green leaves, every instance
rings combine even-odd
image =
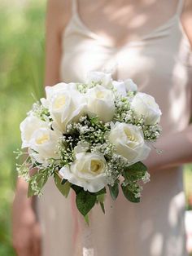
[[[129,201],[139,202],[141,182],[149,181],[142,161],[159,137],[160,116],[151,95],[137,92],[131,79],[112,80],[110,73],[46,86],[46,99],[33,104],[20,124],[28,151],[17,170],[28,182],[28,196],[41,195],[53,176],[63,196],[76,192],[76,207],[87,221],[96,203],[105,212],[107,188],[113,200],[122,189]]]

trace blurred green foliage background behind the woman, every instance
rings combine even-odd
[[[20,121],[43,93],[46,0],[0,0],[0,255],[11,247],[11,201]],[[186,208],[192,208],[192,166],[185,166]]]

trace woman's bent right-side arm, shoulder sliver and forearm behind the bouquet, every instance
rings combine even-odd
[[[181,21],[192,46],[192,2],[185,1],[185,8]],[[191,77],[192,79],[192,77]],[[192,84],[191,84],[191,113],[192,113]],[[165,135],[159,138],[155,147],[163,152],[157,154],[155,149],[151,151],[150,157],[145,164],[150,171],[165,169],[171,166],[179,166],[192,162],[192,125],[181,132]]]

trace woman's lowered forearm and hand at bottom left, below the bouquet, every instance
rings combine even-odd
[[[12,209],[13,246],[18,256],[41,255],[41,232],[33,210],[33,198],[27,198],[28,185],[19,180]]]

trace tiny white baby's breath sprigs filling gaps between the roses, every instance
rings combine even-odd
[[[89,89],[98,85],[102,86],[103,81],[89,82],[89,84],[76,83],[76,88],[81,94],[86,94]],[[57,157],[46,159],[44,163],[37,160],[36,155],[38,155],[38,152],[35,152],[32,148],[30,148],[31,153],[22,152],[20,150],[16,152],[17,158],[25,155],[24,162],[17,164],[16,170],[19,176],[23,177],[29,183],[29,194],[31,189],[34,195],[41,195],[42,188],[47,179],[55,173],[58,173],[63,166],[71,166],[72,163],[76,161],[78,147],[81,148],[81,145],[84,144],[85,151],[103,154],[103,157],[107,161],[105,175],[108,185],[111,185],[111,187],[115,187],[114,185],[117,184],[119,185],[119,178],[120,175],[122,175],[124,181],[121,183],[121,186],[128,186],[129,193],[135,198],[141,196],[142,186],[137,183],[139,181],[137,174],[135,174],[133,180],[129,179],[129,177],[125,177],[124,170],[127,169],[127,166],[130,166],[130,163],[124,157],[116,153],[116,147],[109,142],[108,135],[116,121],[132,124],[133,126],[141,128],[144,139],[149,142],[153,142],[159,137],[161,128],[159,124],[151,126],[146,125],[145,117],[137,117],[134,113],[131,108],[131,101],[136,92],[128,91],[125,96],[122,96],[115,86],[112,85],[112,82],[109,82],[107,89],[112,90],[115,95],[116,110],[111,122],[104,123],[99,120],[98,117],[84,115],[79,117],[77,121],[68,123],[65,132],[59,139],[59,146],[56,149]],[[54,121],[50,117],[50,111],[40,102],[33,104],[33,108],[28,112],[28,115],[33,115],[42,121],[46,121],[50,125],[50,129],[54,130]],[[29,170],[34,167],[37,171],[33,176],[30,176]],[[139,169],[139,171],[141,170]],[[150,180],[150,175],[147,171],[144,172],[142,176],[140,176],[140,180],[146,183]]]

